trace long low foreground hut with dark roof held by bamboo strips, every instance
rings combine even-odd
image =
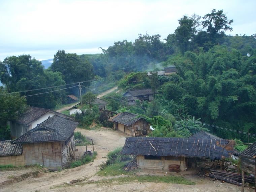
[[[196,158],[222,159],[228,152],[218,143],[228,145],[228,140],[174,138],[174,137],[127,137],[122,154],[137,156],[141,169],[185,171],[194,168]]]

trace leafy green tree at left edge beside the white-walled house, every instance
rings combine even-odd
[[[8,94],[0,87],[0,139],[10,139],[8,120],[15,120],[27,109],[26,98],[18,93]]]

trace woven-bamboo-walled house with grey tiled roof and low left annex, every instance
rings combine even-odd
[[[55,115],[12,141],[0,142],[0,164],[39,164],[56,170],[75,159],[77,122]]]

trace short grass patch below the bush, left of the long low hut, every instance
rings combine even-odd
[[[132,171],[124,171],[123,167],[126,163],[128,163],[129,161],[125,161],[125,162],[119,162],[119,163],[114,163],[113,165],[109,165],[107,167],[105,167],[103,170],[100,170],[97,172],[98,175],[102,175],[102,176],[117,176],[117,175],[130,175],[133,174]]]

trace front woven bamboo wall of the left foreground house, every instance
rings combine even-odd
[[[50,169],[62,166],[62,143],[43,142],[23,144],[26,165],[39,164]]]

